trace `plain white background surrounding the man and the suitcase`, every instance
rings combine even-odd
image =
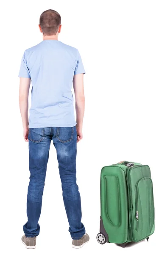
[[[28,0],[1,3],[0,242],[3,255],[152,255],[162,236],[162,1]],[[28,143],[18,105],[20,61],[42,41],[39,16],[46,9],[62,18],[59,40],[79,49],[86,69],[84,139],[78,143],[77,181],[82,222],[90,236],[71,247],[56,151],[50,158],[35,250],[21,243],[29,182]],[[98,244],[100,172],[121,160],[148,164],[154,182],[156,227],[149,243],[125,249]],[[47,252],[48,251],[48,252]]]

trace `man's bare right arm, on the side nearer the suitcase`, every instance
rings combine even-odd
[[[77,142],[83,138],[82,126],[84,117],[84,74],[74,75],[73,87],[75,92],[75,110],[76,110],[76,129],[77,129]]]

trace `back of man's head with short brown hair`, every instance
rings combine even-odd
[[[56,35],[61,25],[61,16],[54,10],[42,12],[39,19],[43,35]]]

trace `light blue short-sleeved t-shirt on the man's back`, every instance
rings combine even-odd
[[[73,76],[85,73],[77,49],[44,40],[25,50],[19,77],[31,78],[29,128],[75,126]]]

